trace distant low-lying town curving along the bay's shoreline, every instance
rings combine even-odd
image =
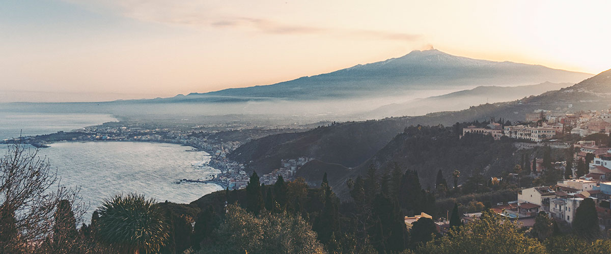
[[[240,138],[235,138],[235,133],[244,133]],[[256,133],[249,133],[256,132]],[[263,132],[263,134],[259,133]],[[269,130],[268,132],[285,132],[285,130]],[[229,129],[225,131],[208,131],[206,127],[195,126],[191,128],[156,127],[147,124],[119,124],[110,122],[102,125],[86,127],[71,132],[57,132],[48,135],[23,136],[21,138],[5,139],[1,143],[21,142],[32,144],[32,146],[44,148],[47,144],[54,142],[88,142],[88,141],[131,141],[131,142],[156,142],[181,144],[194,147],[210,154],[210,161],[200,166],[210,166],[221,171],[213,176],[204,176],[198,179],[179,179],[175,183],[213,183],[223,188],[241,189],[249,182],[249,175],[245,171],[245,165],[229,160],[227,155],[247,143],[252,138],[267,134],[265,130],[242,130]],[[227,138],[230,136],[230,138]],[[262,183],[273,184],[279,175],[286,180],[294,180],[296,172],[301,166],[313,158],[300,157],[288,158],[280,161],[280,168],[274,169],[269,174],[261,176]]]

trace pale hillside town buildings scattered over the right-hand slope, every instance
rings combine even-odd
[[[587,111],[574,114],[552,114],[550,111],[538,110],[525,116],[525,121],[516,125],[505,125],[491,122],[483,127],[474,125],[463,129],[467,133],[491,135],[499,140],[514,138],[531,143],[554,142],[565,133],[585,138],[598,134],[608,139],[605,143],[593,140],[580,140],[570,146],[571,157],[577,165],[567,161],[550,161],[545,165],[543,158],[535,158],[532,177],[540,177],[547,171],[566,172],[565,178],[552,186],[532,186],[521,188],[515,200],[501,202],[490,208],[499,216],[516,220],[522,227],[532,228],[536,217],[541,213],[560,223],[562,227],[571,228],[575,223],[577,208],[585,199],[592,199],[597,212],[598,227],[602,232],[611,230],[611,110]],[[580,166],[583,165],[583,166]],[[567,168],[567,167],[570,168]],[[583,167],[584,169],[580,169]],[[508,178],[491,177],[491,183],[500,181],[516,182],[518,174],[510,173]],[[481,217],[481,212],[463,213],[461,223],[467,224]],[[404,223],[409,229],[421,218],[432,219],[430,214],[421,213],[405,216]],[[448,218],[435,222],[438,233],[446,234],[450,228]]]

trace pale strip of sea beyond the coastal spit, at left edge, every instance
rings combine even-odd
[[[40,114],[0,112],[0,140],[23,136],[64,132],[91,125],[114,122],[104,114]]]

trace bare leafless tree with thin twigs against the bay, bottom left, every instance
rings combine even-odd
[[[0,246],[6,253],[42,252],[32,243],[51,241],[62,200],[73,205],[75,222],[81,221],[85,208],[78,189],[59,185],[57,170],[51,170],[37,150],[26,150],[21,143],[8,148],[0,158]]]

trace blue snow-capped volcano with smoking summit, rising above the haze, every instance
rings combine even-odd
[[[403,57],[356,65],[327,74],[273,85],[191,93],[172,100],[268,100],[378,97],[409,94],[413,90],[447,90],[481,85],[532,85],[542,82],[579,82],[591,74],[551,69],[541,65],[492,62],[458,57],[431,49]],[[210,97],[208,97],[210,96]]]

